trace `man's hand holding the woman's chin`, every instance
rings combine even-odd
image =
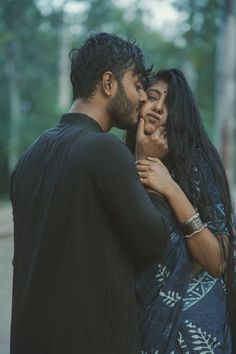
[[[144,120],[140,118],[137,134],[136,134],[136,159],[145,159],[149,157],[157,157],[163,159],[168,154],[168,144],[165,136],[165,127],[159,127],[153,132],[146,135],[144,132]]]

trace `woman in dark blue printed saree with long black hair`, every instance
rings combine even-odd
[[[233,354],[234,232],[225,171],[181,71],[159,71],[147,96],[145,132],[158,128],[168,154],[157,151],[162,162],[146,158],[137,169],[143,185],[169,202],[173,223],[162,263],[137,276],[142,350]],[[130,133],[127,143],[134,150]]]

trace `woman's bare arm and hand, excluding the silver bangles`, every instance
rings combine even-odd
[[[140,160],[137,161],[136,166],[143,185],[161,193],[168,200],[180,223],[196,214],[196,210],[185,193],[159,159]],[[227,247],[227,236],[223,237]],[[225,258],[221,244],[207,227],[185,240],[194,260],[209,274],[213,277],[220,277],[224,273]]]

